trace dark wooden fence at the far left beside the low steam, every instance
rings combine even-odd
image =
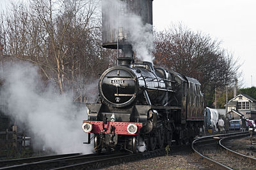
[[[0,159],[26,157],[31,155],[31,138],[25,133],[17,132],[13,125],[12,131],[0,132]]]

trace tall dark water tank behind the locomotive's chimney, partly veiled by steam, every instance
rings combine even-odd
[[[143,25],[152,25],[153,0],[102,0],[102,46],[119,49],[131,46],[131,18],[140,16]],[[127,29],[129,27],[129,29]]]

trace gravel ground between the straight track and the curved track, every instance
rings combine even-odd
[[[202,167],[200,160],[195,159],[191,150],[170,153],[168,156],[127,162],[104,169],[210,169]]]

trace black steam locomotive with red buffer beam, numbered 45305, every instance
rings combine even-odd
[[[94,134],[94,150],[138,152],[189,143],[204,124],[204,94],[195,78],[119,58],[99,80],[97,103],[87,104],[83,131]]]

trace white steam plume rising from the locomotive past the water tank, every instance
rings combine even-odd
[[[124,8],[124,15],[118,15],[120,8]],[[111,9],[111,10],[109,10]],[[118,10],[119,9],[119,10]],[[127,34],[127,41],[131,43],[133,50],[140,60],[153,62],[154,57],[154,36],[151,24],[143,24],[140,16],[132,13],[127,8],[127,3],[120,0],[102,0],[102,11],[104,19],[116,29],[124,28],[124,35]]]

